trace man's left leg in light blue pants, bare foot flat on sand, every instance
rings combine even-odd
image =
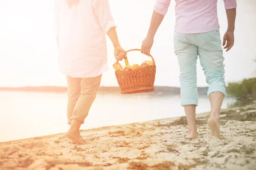
[[[197,137],[195,108],[198,105],[196,62],[198,47],[189,42],[187,34],[175,32],[175,54],[180,66],[181,105],[184,106],[189,133],[187,138]]]

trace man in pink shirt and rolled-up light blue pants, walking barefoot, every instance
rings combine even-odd
[[[149,55],[154,35],[167,13],[171,0],[157,0],[147,37],[141,52]],[[198,105],[196,62],[201,66],[209,84],[208,96],[211,117],[207,124],[211,135],[221,139],[219,113],[226,95],[224,80],[224,57],[221,48],[217,0],[175,0],[176,24],[174,33],[175,54],[180,66],[181,105],[184,106],[189,131],[187,138],[197,138],[195,108]],[[236,0],[224,0],[228,27],[222,45],[229,51],[234,45]]]

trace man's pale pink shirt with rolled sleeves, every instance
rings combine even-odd
[[[165,15],[171,0],[157,0],[154,11]],[[217,0],[175,0],[175,31],[183,34],[203,33],[219,27]],[[224,0],[225,9],[236,8],[236,0]]]

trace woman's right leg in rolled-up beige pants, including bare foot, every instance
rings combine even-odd
[[[76,142],[76,144],[84,144],[80,136],[80,126],[84,123],[90,107],[96,98],[97,91],[101,82],[101,77],[89,77],[81,79],[81,95],[79,96],[76,106],[71,117],[70,129],[67,131],[66,136]]]

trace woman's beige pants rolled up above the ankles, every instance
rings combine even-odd
[[[97,77],[75,78],[67,76],[67,123],[72,119],[84,123],[96,98],[102,74]]]

